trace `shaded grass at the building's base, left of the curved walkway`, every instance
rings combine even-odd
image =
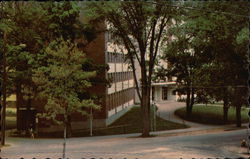
[[[153,114],[151,114],[151,117]],[[171,121],[164,120],[160,117],[156,117],[156,130],[172,130],[188,128],[183,124],[174,123]],[[142,120],[140,107],[133,107],[130,111],[112,123],[110,126],[105,128],[99,128],[93,130],[93,136],[101,135],[115,135],[115,134],[129,134],[129,133],[141,133],[142,131]],[[41,137],[62,137],[62,132],[56,132],[53,134],[43,134]],[[89,130],[74,131],[73,137],[89,136]]]

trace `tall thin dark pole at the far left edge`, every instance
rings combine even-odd
[[[7,83],[6,40],[7,40],[7,34],[5,31],[3,34],[3,83],[2,83],[3,104],[1,112],[1,145],[5,145],[6,83]]]

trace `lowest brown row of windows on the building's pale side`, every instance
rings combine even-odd
[[[107,108],[112,110],[134,99],[134,88],[125,89],[119,92],[109,94],[107,97]]]

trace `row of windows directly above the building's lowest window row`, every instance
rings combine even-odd
[[[133,79],[133,72],[108,73],[108,79],[111,79],[113,83],[131,80]]]

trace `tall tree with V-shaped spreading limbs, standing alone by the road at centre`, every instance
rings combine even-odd
[[[105,2],[89,4],[90,21],[107,21],[114,42],[126,48],[126,57],[133,69],[137,94],[141,101],[143,112],[142,136],[149,136],[150,131],[150,89],[159,52],[162,34],[175,13],[174,8],[166,2]],[[139,63],[141,76],[141,92],[135,71],[135,63]]]

